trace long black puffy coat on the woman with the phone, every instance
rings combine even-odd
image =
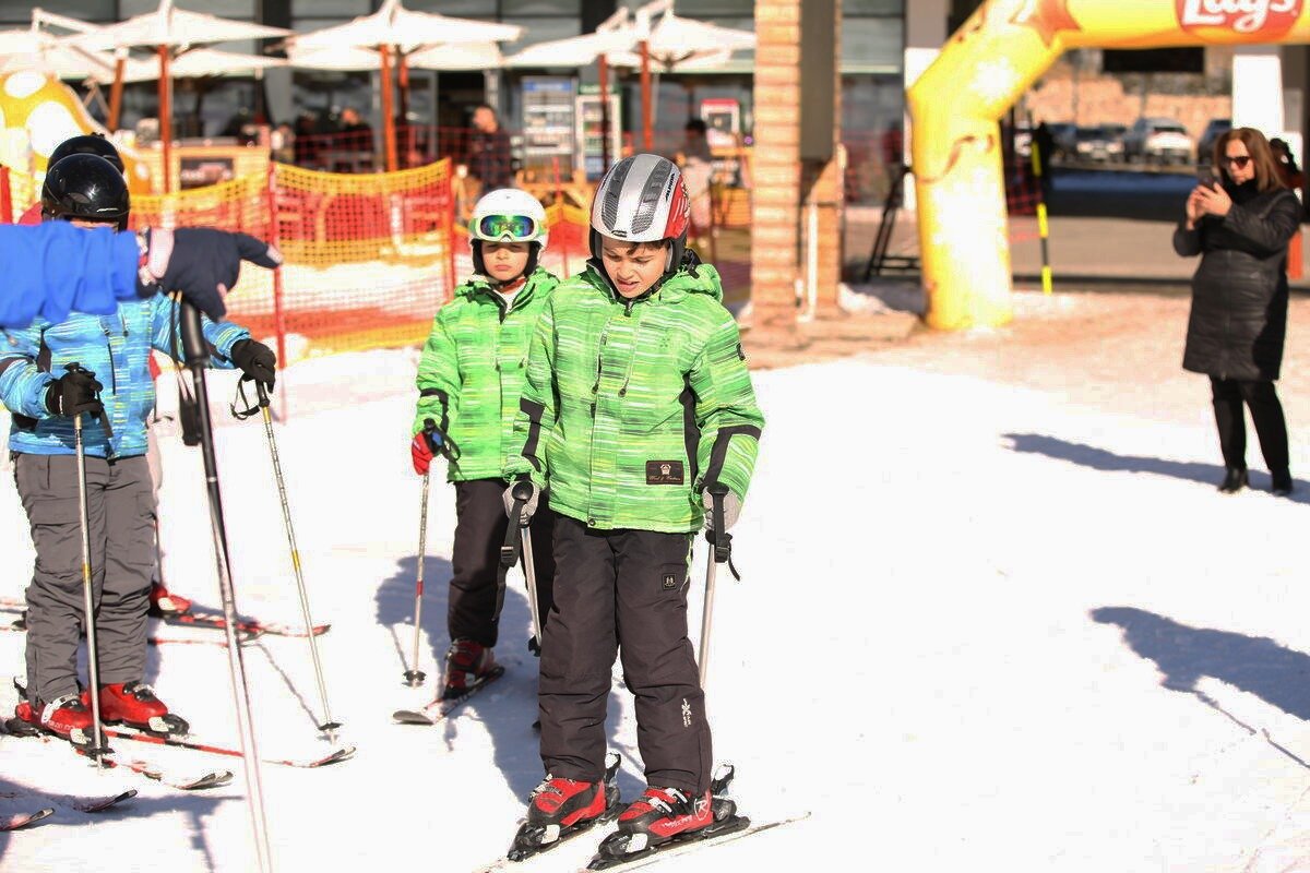
[[[1246,187],[1246,186],[1242,186]],[[1288,329],[1288,241],[1301,224],[1301,202],[1286,188],[1229,188],[1224,217],[1180,224],[1174,250],[1201,255],[1192,276],[1183,369],[1218,378],[1279,378]]]

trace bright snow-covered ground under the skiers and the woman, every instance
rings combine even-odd
[[[937,353],[912,346],[756,374],[768,427],[735,531],[743,581],[720,576],[709,704],[715,758],[736,764],[743,811],[810,818],[663,865],[1310,869],[1310,482],[1298,479],[1294,500],[1260,491],[1252,435],[1256,490],[1218,495],[1199,377],[1157,385],[1158,403],[1137,386],[1136,402],[1115,408],[1114,393],[1079,393],[1076,378],[979,374],[965,364],[986,340],[929,342]],[[1087,378],[1102,378],[1090,364]],[[419,509],[406,446],[413,368],[411,352],[372,352],[286,374],[282,463],[314,619],[333,624],[320,637],[333,713],[359,754],[317,771],[263,768],[279,870],[477,869],[503,855],[541,777],[521,585],[498,649],[507,677],[441,726],[390,724],[393,709],[432,692],[432,679],[419,691],[401,683]],[[229,376],[211,387],[238,603],[296,623],[263,429],[227,415]],[[1310,438],[1296,418],[1292,438],[1303,474]],[[452,503],[434,487],[430,677],[447,645]],[[216,606],[200,458],[176,438],[162,512],[169,584]],[[8,487],[0,531],[0,596],[13,597],[31,551]],[[694,572],[693,635],[700,560]],[[3,669],[20,668],[21,647],[0,633]],[[305,641],[266,636],[244,653],[261,751],[326,750]],[[198,736],[236,742],[221,648],[168,645],[149,664],[147,678]],[[0,691],[0,708],[13,699]],[[610,700],[631,797],[642,787],[631,703],[617,686]],[[98,815],[60,806],[30,831],[0,834],[0,869],[255,869],[238,760],[118,745],[237,779],[185,794],[5,737],[0,814],[29,809],[28,791],[131,785],[140,797]],[[576,869],[595,842],[520,869]]]

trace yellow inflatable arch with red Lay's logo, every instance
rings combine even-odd
[[[989,0],[909,89],[927,323],[1011,318],[1001,115],[1068,48],[1310,42],[1310,0]]]

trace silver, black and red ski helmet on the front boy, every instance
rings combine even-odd
[[[629,242],[672,240],[671,272],[683,263],[686,228],[692,223],[690,203],[683,173],[658,154],[625,157],[600,181],[591,203],[591,255],[600,258],[600,237]]]

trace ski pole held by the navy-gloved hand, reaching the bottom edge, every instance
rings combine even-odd
[[[232,696],[237,708],[237,726],[241,733],[241,754],[245,760],[246,801],[250,826],[254,831],[255,859],[259,870],[272,873],[272,853],[269,848],[269,825],[263,814],[263,783],[259,779],[259,753],[255,747],[254,722],[250,719],[250,688],[246,685],[245,662],[237,644],[237,603],[232,586],[232,561],[228,555],[228,533],[223,521],[223,495],[219,491],[219,465],[214,453],[214,424],[210,420],[210,393],[204,382],[204,365],[210,360],[208,344],[200,325],[200,310],[189,302],[182,308],[182,349],[186,366],[191,370],[199,415],[200,450],[204,455],[204,480],[210,492],[210,529],[214,534],[214,558],[217,564],[219,594],[223,598],[224,632],[228,637],[228,668],[232,673]]]

